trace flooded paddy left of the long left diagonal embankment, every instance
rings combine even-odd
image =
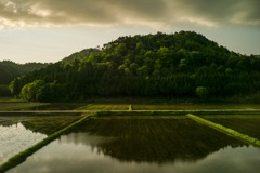
[[[0,116],[0,164],[76,119],[75,116]]]

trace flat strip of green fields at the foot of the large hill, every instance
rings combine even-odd
[[[1,110],[260,110],[253,104],[188,103],[166,101],[93,101],[90,103],[25,103],[0,102]]]

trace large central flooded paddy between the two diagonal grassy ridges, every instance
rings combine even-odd
[[[90,118],[8,172],[253,173],[259,162],[259,148],[184,116],[109,116]]]

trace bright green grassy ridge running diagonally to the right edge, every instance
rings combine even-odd
[[[242,141],[244,141],[246,143],[252,144],[253,146],[260,147],[260,139],[258,139],[258,138],[251,137],[251,136],[249,136],[247,134],[243,134],[243,133],[237,132],[237,131],[235,131],[233,129],[226,128],[226,127],[221,125],[219,123],[214,123],[212,121],[209,121],[209,120],[206,120],[204,118],[194,116],[192,114],[187,114],[186,117],[188,117],[188,118],[191,118],[194,121],[197,121],[199,123],[206,124],[209,128],[212,128],[212,129],[218,130],[218,131],[220,131],[222,133],[225,133],[225,134],[227,134],[230,136],[233,136],[235,138],[242,139]]]

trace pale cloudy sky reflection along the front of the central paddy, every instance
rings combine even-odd
[[[174,162],[121,162],[118,159],[98,150],[96,144],[109,143],[113,138],[87,135],[83,133],[69,134],[54,141],[27,159],[12,173],[255,173],[260,170],[260,149],[249,147],[226,147],[209,154],[198,161],[176,160]]]

